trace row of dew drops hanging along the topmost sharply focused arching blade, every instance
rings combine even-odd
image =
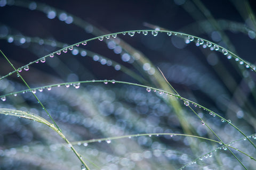
[[[133,36],[135,35],[135,32],[137,32],[137,33],[141,33],[141,32],[142,32],[142,34],[145,35],[145,36],[148,35],[148,31],[130,31],[130,32],[127,32],[127,33],[128,33],[129,36],[133,37]],[[151,31],[151,35],[157,36],[157,35],[158,35],[158,32],[159,32],[159,31],[156,31],[156,30],[155,30],[155,31]],[[173,32],[166,32],[166,33],[167,33],[168,36],[171,36]],[[123,35],[126,35],[126,32],[122,32],[122,34],[123,34]],[[174,35],[177,36],[178,33],[174,33]],[[180,36],[184,36],[182,33],[180,33],[179,35],[180,35]],[[117,34],[113,34],[113,35],[111,35],[111,37],[112,37],[112,38],[116,38],[116,37],[117,37]],[[110,38],[110,35],[102,36],[102,37],[99,37],[98,39],[99,39],[100,41],[103,41],[104,38],[109,39],[109,38]],[[183,37],[183,38],[184,38],[184,37]],[[193,36],[185,37],[185,42],[186,42],[187,44],[189,44],[191,41],[196,41],[196,46],[202,45],[203,48],[209,47],[210,50],[216,50],[216,51],[222,52],[222,54],[225,55],[225,56],[227,56],[228,59],[231,59],[231,58],[232,58],[232,56],[228,53],[228,50],[227,50],[227,49],[221,48],[221,47],[219,47],[218,45],[215,45],[215,44],[213,45],[210,41],[206,41],[206,43],[205,43],[205,40],[200,39],[200,38],[198,38],[197,40],[195,40],[195,38],[194,38]],[[83,41],[81,44],[85,46],[85,45],[87,44],[87,41]],[[80,45],[80,43],[75,44],[75,46],[77,46],[77,47],[78,47],[79,45]],[[67,47],[67,48],[64,48],[64,49],[62,49],[62,50],[59,50],[59,51],[57,51],[57,52],[55,52],[55,53],[52,53],[52,54],[50,54],[50,55],[47,55],[47,56],[54,57],[54,54],[60,55],[61,52],[67,53],[67,52],[68,52],[68,49],[69,49],[69,50],[73,50],[74,47],[73,47],[73,46],[69,46],[69,47]],[[41,58],[41,59],[39,59],[39,60],[36,60],[35,63],[39,63],[39,61],[42,62],[42,63],[44,63],[44,62],[46,61],[46,57],[47,57],[47,56],[45,56],[45,57],[43,57],[43,58]],[[239,64],[241,64],[241,65],[244,64],[244,61],[242,61],[241,59],[239,59],[239,58],[237,58],[237,57],[235,57],[235,61],[239,62]],[[21,72],[22,69],[24,69],[25,71],[28,71],[28,70],[29,70],[29,65],[32,64],[32,63],[34,63],[34,62],[30,62],[28,65],[25,65],[25,66],[23,66],[23,67],[20,67],[17,71],[18,71],[18,72]],[[246,67],[246,68],[249,68],[250,66],[249,66],[248,64],[246,64],[245,67]],[[252,69],[253,69],[254,71],[256,71],[256,66],[251,65],[251,67],[252,67]],[[19,74],[17,74],[17,76],[19,77]]]

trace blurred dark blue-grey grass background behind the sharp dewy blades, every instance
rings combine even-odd
[[[39,5],[39,2],[0,3],[0,48],[17,68],[60,49],[54,45],[42,45],[40,38],[51,40],[53,44],[59,41],[70,45],[108,32],[158,28],[208,39],[255,64],[255,20],[252,17],[255,5],[252,1],[207,1],[203,4],[178,0],[42,2],[65,12]],[[42,8],[45,13],[35,10],[35,4],[36,9]],[[54,18],[51,11],[56,12]],[[80,22],[75,16],[85,22]],[[75,21],[83,27],[75,25]],[[29,39],[23,43],[23,36],[40,38],[38,43],[29,43]],[[14,38],[12,43],[7,42],[10,37]],[[249,69],[217,52],[196,47],[194,43],[186,44],[185,40],[164,33],[158,33],[156,37],[150,33],[147,36],[136,33],[134,37],[120,35],[118,38],[130,46],[118,43],[118,39],[110,39],[107,45],[97,40],[90,41],[83,48],[121,63],[145,81],[139,82],[125,72],[95,62],[95,58],[70,52],[31,65],[29,71],[22,71],[21,75],[31,87],[115,79],[169,90],[156,69],[158,66],[182,97],[230,119],[247,135],[255,133],[256,77]],[[133,54],[129,54],[130,60],[126,61],[124,54],[128,52],[123,48],[131,47]],[[132,58],[138,54],[145,55],[145,58],[134,62]],[[148,74],[149,63],[155,68],[154,74]],[[3,57],[0,64],[2,76],[12,71]],[[0,80],[0,95],[23,89],[26,87],[16,74]],[[138,133],[190,133],[214,139],[182,102],[172,104],[169,98],[143,88],[91,83],[82,84],[79,89],[53,88],[36,95],[70,141]],[[5,102],[1,101],[0,107],[29,111],[48,118],[31,94],[8,97]],[[225,142],[242,138],[227,123],[221,123],[202,109],[195,109]],[[49,127],[4,115],[0,121],[0,169],[80,168],[75,155],[58,145],[63,141]],[[236,147],[255,157],[254,148],[248,146],[247,141],[237,143]],[[77,150],[99,166],[98,169],[177,169],[219,147],[211,142],[179,136],[138,137],[113,140],[109,144],[102,141],[86,147],[82,144],[76,146]],[[248,169],[253,169],[254,160],[237,155]],[[237,160],[223,149],[185,169],[200,168],[242,169]]]

